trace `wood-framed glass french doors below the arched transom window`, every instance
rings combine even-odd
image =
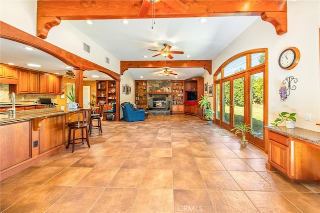
[[[264,66],[234,74],[215,82],[215,122],[227,130],[240,123],[249,124],[254,137],[247,139],[264,149]]]

